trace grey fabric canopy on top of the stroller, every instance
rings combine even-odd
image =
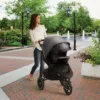
[[[71,49],[70,43],[67,42],[64,38],[62,38],[60,36],[46,37],[44,40],[43,46],[42,46],[44,56],[47,57],[49,55],[49,52],[52,50],[52,48],[54,46],[56,46],[57,44],[61,44],[61,43],[66,43],[66,45],[64,45],[64,47],[58,48],[58,49],[66,48],[66,51]]]

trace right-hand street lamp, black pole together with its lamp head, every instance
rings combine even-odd
[[[68,13],[68,16],[71,12],[70,8],[68,7],[66,9],[67,13]],[[73,22],[74,22],[74,49],[73,50],[76,50],[76,15],[75,15],[75,11],[73,12]]]

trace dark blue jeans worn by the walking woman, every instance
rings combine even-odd
[[[40,77],[42,77],[42,73],[44,70],[43,54],[42,51],[38,50],[37,48],[35,48],[34,50],[34,63],[35,64],[32,67],[30,74],[33,75],[37,67],[40,65]]]

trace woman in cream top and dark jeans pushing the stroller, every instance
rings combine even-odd
[[[29,26],[29,34],[31,41],[33,43],[33,55],[34,55],[34,66],[30,72],[30,80],[33,80],[33,74],[37,67],[40,65],[40,77],[42,77],[42,72],[44,70],[44,62],[42,57],[42,49],[39,45],[39,41],[44,39],[46,35],[46,29],[44,25],[40,25],[40,15],[39,14],[32,14]]]

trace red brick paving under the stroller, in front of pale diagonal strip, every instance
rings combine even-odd
[[[2,89],[10,100],[99,100],[100,80],[92,80],[81,76],[81,62],[71,56],[69,64],[74,72],[72,77],[73,93],[66,96],[59,81],[45,81],[43,91],[38,89],[38,72],[34,75],[34,80],[27,80],[25,76]]]

